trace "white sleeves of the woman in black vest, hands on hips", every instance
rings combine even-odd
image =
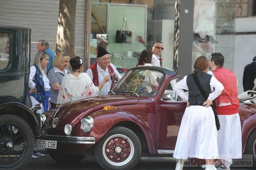
[[[188,90],[188,85],[187,85],[187,77],[185,76],[182,80],[180,80],[176,85],[173,86],[173,90],[184,100],[188,101],[188,94],[186,94],[183,89]],[[224,87],[223,85],[214,77],[212,76],[211,81],[210,81],[210,86],[211,90],[213,91],[213,87],[215,88],[214,92],[209,94],[208,99],[209,100],[214,100],[217,98],[221,92],[223,91]]]

